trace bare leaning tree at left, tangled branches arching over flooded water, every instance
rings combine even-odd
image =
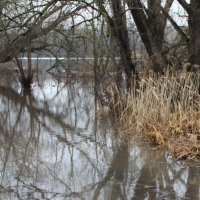
[[[2,45],[0,46],[0,62],[16,59],[22,85],[30,87],[32,70],[29,65],[28,74],[25,75],[20,65],[20,53],[33,52],[43,49],[48,42],[44,36],[54,31],[60,24],[65,23],[76,15],[86,5],[78,1],[36,0],[4,1],[0,4],[0,33]],[[40,42],[36,42],[39,39]]]

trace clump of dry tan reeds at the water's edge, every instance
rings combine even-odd
[[[200,76],[150,77],[125,94],[109,89],[110,105],[128,133],[167,147],[177,158],[200,159]]]

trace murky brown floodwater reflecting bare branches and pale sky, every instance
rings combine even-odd
[[[200,199],[197,164],[127,142],[92,84],[0,86],[0,199]]]

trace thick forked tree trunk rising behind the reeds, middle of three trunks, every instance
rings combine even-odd
[[[167,66],[163,56],[164,32],[167,17],[161,12],[160,0],[149,0],[145,10],[140,0],[126,0],[131,15],[135,21],[141,40],[152,61],[152,68],[156,73],[163,73]],[[169,11],[173,0],[167,0],[164,9]]]

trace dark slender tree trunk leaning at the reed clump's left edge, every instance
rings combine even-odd
[[[104,2],[101,0],[96,0],[96,5],[98,7],[99,12],[105,18],[109,30],[110,35],[114,37],[116,43],[118,44],[120,57],[121,57],[121,67],[124,68],[126,74],[126,84],[127,88],[130,89],[133,75],[135,74],[135,65],[131,60],[131,50],[128,38],[128,30],[125,20],[125,11],[123,9],[121,0],[111,0],[109,1],[111,5],[111,10],[113,16],[110,16],[109,12],[106,10],[104,6]],[[118,68],[118,71],[121,70]]]

